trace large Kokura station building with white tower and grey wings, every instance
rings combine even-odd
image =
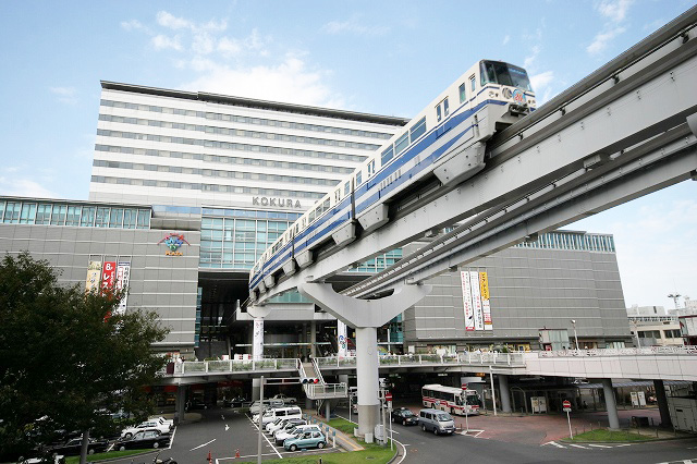
[[[29,251],[61,269],[65,283],[127,286],[121,310],[155,310],[171,329],[156,347],[189,358],[252,352],[244,302],[256,259],[408,122],[111,82],[101,87],[88,199],[0,196],[0,251]],[[334,284],[355,283],[417,247],[370,259]],[[631,340],[611,235],[541,234],[431,283],[431,295],[382,328],[386,351],[535,350],[540,329],[571,331],[571,320],[579,344]],[[298,293],[270,304],[265,355],[335,352],[332,316]]]

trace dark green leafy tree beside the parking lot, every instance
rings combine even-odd
[[[120,410],[151,412],[145,392],[166,359],[151,350],[168,330],[154,313],[115,314],[119,294],[61,285],[28,253],[0,264],[0,457],[88,431]],[[83,447],[86,451],[85,447]],[[83,461],[84,462],[84,461]]]

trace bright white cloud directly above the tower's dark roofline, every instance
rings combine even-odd
[[[291,54],[278,65],[233,69],[196,59],[191,66],[204,75],[183,86],[188,90],[331,108],[345,105],[343,98],[323,83],[327,73],[308,70],[302,59]]]

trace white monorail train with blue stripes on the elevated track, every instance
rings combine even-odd
[[[415,185],[433,175],[456,185],[481,171],[486,141],[534,110],[524,69],[476,63],[264,252],[249,272],[250,300],[281,272],[311,265],[318,249],[343,247],[386,224],[389,204]]]

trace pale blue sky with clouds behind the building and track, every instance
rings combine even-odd
[[[548,100],[694,5],[601,1],[5,1],[0,194],[86,199],[99,81],[411,117],[479,59]],[[697,300],[697,183],[567,229],[615,235],[627,305]]]

